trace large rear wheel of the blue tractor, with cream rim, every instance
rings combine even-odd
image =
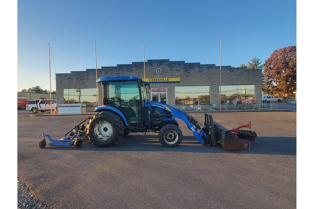
[[[89,141],[98,147],[118,144],[124,133],[121,118],[113,112],[98,112],[87,123]]]

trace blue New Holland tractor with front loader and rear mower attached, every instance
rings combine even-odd
[[[134,76],[101,77],[102,106],[96,107],[96,114],[88,117],[66,133],[63,139],[52,140],[42,134],[39,147],[46,146],[45,136],[51,146],[81,147],[83,141],[91,141],[99,147],[111,147],[129,133],[158,133],[159,141],[165,147],[176,147],[181,143],[182,132],[176,119],[182,120],[192,131],[197,141],[205,146],[220,144],[225,149],[250,147],[257,134],[249,130],[251,122],[228,130],[213,121],[212,115],[205,113],[204,127],[188,114],[162,102],[150,101],[149,83]],[[87,123],[85,126],[83,123]],[[83,124],[83,125],[82,125]]]

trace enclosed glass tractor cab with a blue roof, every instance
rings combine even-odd
[[[142,124],[146,83],[134,76],[101,77],[103,105],[119,109],[129,124]]]

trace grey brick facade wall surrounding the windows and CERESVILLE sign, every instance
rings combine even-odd
[[[160,68],[162,72],[156,73]],[[138,76],[144,78],[143,62],[132,62],[97,69],[98,77],[102,76]],[[147,60],[145,62],[146,78],[180,77],[180,83],[151,83],[150,86],[167,86],[167,103],[175,106],[175,86],[210,86],[211,103],[219,104],[220,70],[215,64],[201,65],[199,62]],[[56,74],[57,102],[63,103],[63,89],[96,88],[95,69],[71,71]],[[262,98],[262,71],[246,68],[221,67],[221,85],[255,85],[255,98]],[[99,87],[101,103],[102,89]]]

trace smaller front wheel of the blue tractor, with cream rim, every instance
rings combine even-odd
[[[165,147],[176,147],[181,143],[182,132],[175,124],[167,124],[161,127],[158,138]]]

